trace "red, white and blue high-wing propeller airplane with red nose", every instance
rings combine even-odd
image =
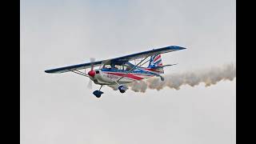
[[[73,72],[88,77],[95,84],[100,85],[99,90],[95,90],[93,93],[97,98],[100,98],[103,94],[101,89],[104,85],[124,93],[128,90],[126,84],[130,82],[154,76],[159,77],[164,81],[164,78],[161,76],[161,74],[164,74],[163,68],[172,65],[162,65],[161,54],[183,49],[186,48],[180,46],[166,46],[103,61],[95,62],[94,59],[91,58],[91,62],[88,63],[45,70],[45,72],[54,74]],[[137,64],[132,64],[131,61],[133,60],[139,60],[139,62]],[[147,62],[149,62],[148,66],[143,67]],[[94,67],[96,66],[99,66],[98,70],[94,70]],[[86,69],[88,68],[90,68],[90,71],[86,74]]]

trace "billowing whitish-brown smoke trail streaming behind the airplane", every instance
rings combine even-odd
[[[236,67],[231,63],[205,70],[167,74],[164,76],[164,81],[161,81],[160,78],[149,78],[147,80],[130,83],[128,86],[130,90],[144,93],[146,89],[162,90],[164,87],[179,90],[182,85],[193,87],[201,82],[204,82],[205,86],[211,86],[222,80],[232,81],[235,77]]]

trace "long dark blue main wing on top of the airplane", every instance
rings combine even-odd
[[[69,72],[72,70],[82,70],[82,69],[90,68],[91,64],[94,64],[94,66],[100,66],[102,64],[110,64],[110,63],[122,65],[123,63],[129,62],[134,59],[146,58],[146,57],[149,57],[154,54],[163,54],[163,53],[168,53],[171,51],[183,50],[183,49],[186,49],[186,48],[180,47],[180,46],[166,46],[166,47],[162,47],[159,49],[147,50],[147,51],[143,51],[141,53],[130,54],[130,55],[126,55],[126,56],[119,57],[119,58],[110,58],[110,59],[107,59],[104,61],[88,62],[88,63],[82,63],[82,64],[78,64],[78,65],[73,65],[73,66],[65,66],[65,67],[60,67],[60,68],[56,68],[56,69],[45,70],[45,72],[46,73],[65,73],[65,72]]]

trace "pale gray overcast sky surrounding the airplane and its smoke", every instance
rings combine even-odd
[[[162,46],[166,74],[236,61],[234,0],[21,1],[21,143],[234,144],[236,81],[127,91],[44,70]]]

